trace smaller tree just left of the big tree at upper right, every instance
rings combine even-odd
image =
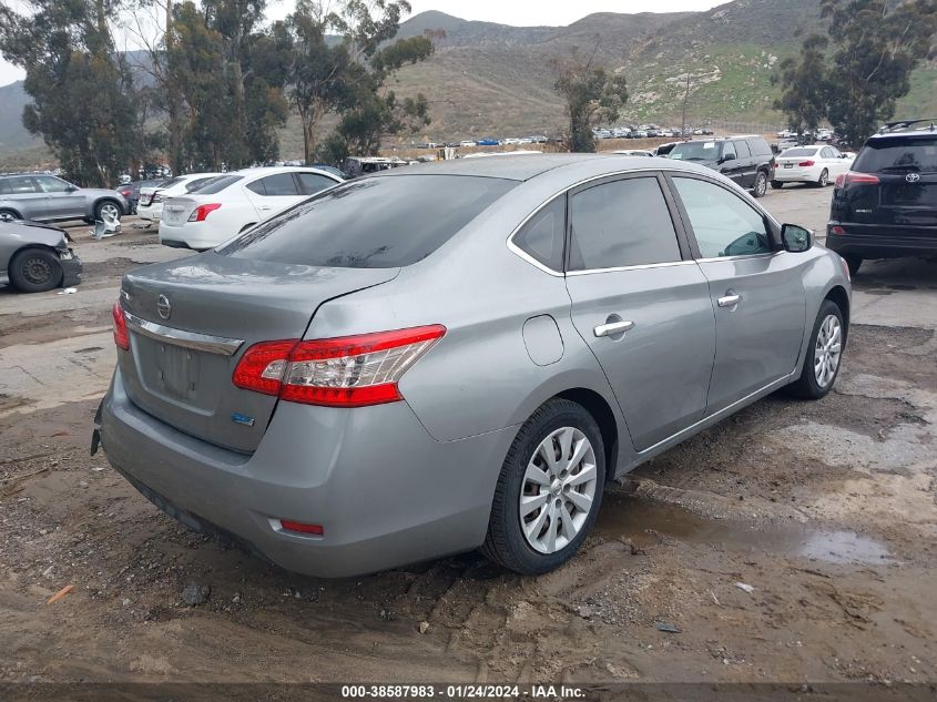
[[[787,124],[795,132],[816,133],[826,119],[829,100],[829,75],[826,69],[826,37],[813,34],[804,41],[801,60],[784,59],[780,74],[772,75],[772,83],[781,83],[781,98],[774,108],[787,115]]]

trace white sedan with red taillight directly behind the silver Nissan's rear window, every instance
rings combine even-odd
[[[309,167],[261,167],[234,171],[163,205],[160,243],[204,251],[236,236],[342,183],[327,171]]]

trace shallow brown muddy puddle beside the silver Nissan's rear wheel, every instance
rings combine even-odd
[[[638,548],[675,539],[689,545],[834,564],[895,562],[887,546],[855,531],[803,526],[753,528],[744,522],[707,519],[676,506],[621,495],[603,499],[594,530],[607,539],[630,539]]]

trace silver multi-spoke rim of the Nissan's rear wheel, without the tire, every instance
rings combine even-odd
[[[595,451],[574,427],[544,438],[527,465],[520,491],[520,526],[540,553],[566,548],[582,529],[595,498]]]

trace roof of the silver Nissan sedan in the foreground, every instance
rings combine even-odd
[[[435,161],[421,165],[381,171],[369,177],[403,177],[406,175],[468,175],[476,177],[497,177],[510,181],[529,181],[551,173],[571,179],[594,177],[604,174],[635,170],[646,171],[654,167],[682,170],[693,173],[712,174],[711,169],[692,163],[671,161],[670,159],[649,159],[610,153],[550,153],[540,155],[508,155],[500,159],[452,159]]]

